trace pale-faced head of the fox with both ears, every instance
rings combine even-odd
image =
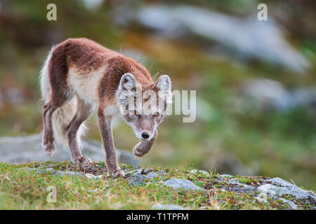
[[[119,110],[140,141],[150,141],[172,103],[171,80],[164,75],[142,85],[131,73],[121,77],[117,90]]]

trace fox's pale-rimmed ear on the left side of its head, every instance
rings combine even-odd
[[[119,81],[119,87],[117,89],[117,96],[119,97],[119,102],[122,104],[126,102],[129,97],[136,94],[134,87],[136,87],[136,79],[131,73],[125,73],[121,76]]]

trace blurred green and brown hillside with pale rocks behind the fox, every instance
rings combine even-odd
[[[268,21],[258,21],[258,3]],[[57,21],[46,20],[55,3]],[[91,38],[197,90],[197,120],[169,116],[147,167],[279,176],[316,190],[315,1],[0,0],[0,136],[41,132],[51,45]],[[96,116],[87,138],[100,140]],[[138,142],[114,120],[117,148]]]

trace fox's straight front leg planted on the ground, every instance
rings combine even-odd
[[[100,132],[102,135],[103,146],[105,148],[105,162],[107,164],[107,176],[112,175],[113,178],[117,176],[124,176],[124,172],[119,168],[117,162],[117,152],[114,148],[112,135],[112,117],[104,116],[103,111],[98,111],[98,120]]]

